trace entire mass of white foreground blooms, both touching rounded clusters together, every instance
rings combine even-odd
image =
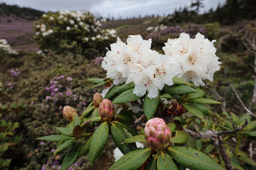
[[[152,51],[151,39],[143,40],[140,35],[130,35],[127,44],[118,38],[110,45],[103,58],[102,67],[113,84],[134,82],[133,93],[155,98],[164,85],[173,85],[172,78],[179,76],[195,85],[204,85],[202,80],[213,80],[219,70],[218,57],[213,42],[198,33],[195,39],[182,33],[180,38],[169,39],[163,50],[165,55]]]

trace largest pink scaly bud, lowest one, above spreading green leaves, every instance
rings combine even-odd
[[[150,148],[164,150],[170,144],[171,131],[161,118],[150,119],[146,122],[144,136]]]

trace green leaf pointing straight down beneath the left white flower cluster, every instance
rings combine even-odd
[[[146,93],[146,96],[145,96],[145,99],[143,102],[143,111],[146,116],[146,119],[149,120],[152,118],[152,116],[155,113],[155,110],[158,107],[158,103],[160,100],[160,91],[158,91],[158,95],[154,99],[150,99],[147,95],[148,95],[148,93]]]

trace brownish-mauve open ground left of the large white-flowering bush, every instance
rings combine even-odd
[[[0,17],[0,39],[4,38],[16,51],[37,51],[38,45],[33,39],[34,21],[10,16]]]

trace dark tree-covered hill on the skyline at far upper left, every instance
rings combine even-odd
[[[0,17],[16,16],[27,20],[37,20],[45,12],[37,9],[19,7],[18,5],[8,5],[0,3]]]

